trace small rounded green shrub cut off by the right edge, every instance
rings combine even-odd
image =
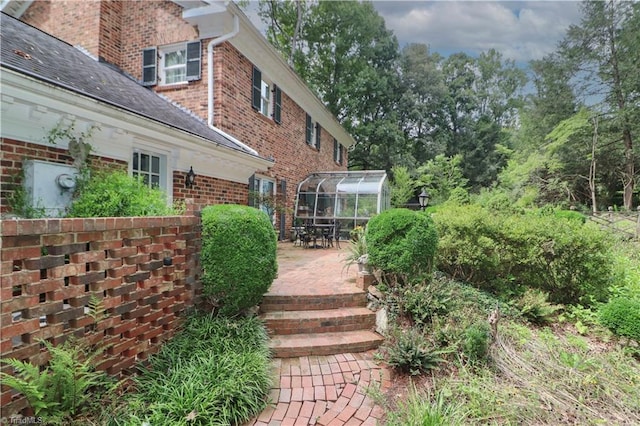
[[[615,335],[640,343],[640,300],[610,300],[600,308],[600,323]]]

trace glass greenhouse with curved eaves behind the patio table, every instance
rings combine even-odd
[[[338,220],[349,230],[388,209],[390,202],[384,170],[313,173],[298,185],[294,219],[314,225]]]

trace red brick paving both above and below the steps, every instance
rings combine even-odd
[[[346,245],[303,249],[280,243],[278,278],[269,292],[330,295],[354,286],[356,268],[343,268]],[[371,392],[390,386],[390,372],[373,362],[373,353],[274,359],[269,407],[245,426],[382,424],[383,410]]]

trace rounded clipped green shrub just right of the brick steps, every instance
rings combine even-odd
[[[438,236],[429,216],[408,209],[391,209],[367,225],[369,263],[401,283],[428,276],[433,268]]]

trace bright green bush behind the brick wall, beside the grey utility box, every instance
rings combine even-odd
[[[125,172],[96,172],[76,190],[67,216],[128,217],[175,214],[164,192]]]

